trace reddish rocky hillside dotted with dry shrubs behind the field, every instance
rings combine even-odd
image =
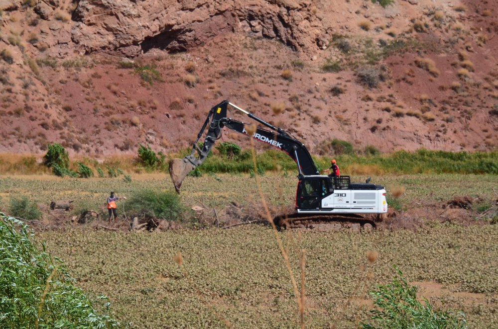
[[[0,152],[169,152],[226,98],[314,153],[495,150],[498,3],[376,2],[0,0]]]

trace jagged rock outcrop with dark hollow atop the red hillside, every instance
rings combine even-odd
[[[136,55],[159,48],[185,51],[225,33],[277,39],[314,51],[325,29],[307,1],[81,0],[72,39],[86,52]]]

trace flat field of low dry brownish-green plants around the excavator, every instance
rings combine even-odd
[[[365,177],[355,177],[361,181]],[[385,186],[403,186],[403,208],[443,204],[455,196],[496,200],[496,175],[385,175]],[[267,173],[263,193],[275,207],[294,203],[296,178]],[[123,178],[0,178],[1,208],[11,195],[38,203],[55,199],[101,206],[110,190],[126,195],[140,188],[172,190],[166,175]],[[246,174],[188,177],[182,200],[222,210],[230,202],[257,203],[254,178]],[[119,211],[126,204],[120,203]],[[400,218],[400,220],[402,220]],[[306,328],[352,328],[373,307],[368,291],[387,283],[396,264],[420,298],[463,310],[471,328],[498,324],[498,226],[426,221],[413,230],[373,232],[279,232],[298,284],[299,259],[306,253]],[[133,328],[296,328],[299,315],[289,274],[268,226],[228,230],[104,232],[91,226],[66,226],[38,232],[48,250],[62,258],[91,296],[106,294],[112,315]],[[373,263],[368,250],[378,252]],[[174,261],[183,254],[185,272]]]

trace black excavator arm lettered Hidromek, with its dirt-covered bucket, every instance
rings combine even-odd
[[[227,117],[227,108],[229,105],[242,111],[249,118],[262,124],[268,129],[256,127],[254,133],[249,135],[248,131],[253,131],[253,128],[250,129],[248,124]],[[249,113],[237,105],[230,103],[228,100],[224,100],[218,105],[213,106],[209,111],[209,114],[201,130],[199,131],[199,134],[197,135],[197,139],[192,146],[192,152],[190,155],[183,159],[173,159],[169,163],[169,173],[178,193],[180,192],[180,187],[185,176],[206,160],[215,142],[220,139],[222,130],[225,127],[261,142],[270,144],[285,152],[296,162],[299,176],[318,174],[316,165],[304,144],[296,140],[285,130],[271,125],[252,113]],[[198,141],[204,135],[206,129],[206,138],[202,148],[199,148]]]

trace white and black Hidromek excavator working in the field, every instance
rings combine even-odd
[[[243,112],[264,127],[257,125],[254,129],[254,125],[227,117],[229,106]],[[304,225],[305,228],[313,228],[313,223],[333,221],[356,222],[362,225],[370,223],[375,227],[374,221],[362,215],[375,214],[379,217],[387,213],[386,191],[383,186],[370,183],[370,178],[365,183],[353,183],[350,176],[331,177],[320,174],[308,149],[290,132],[273,126],[229,100],[224,100],[211,108],[193,143],[191,154],[183,159],[170,161],[169,173],[178,193],[187,174],[206,160],[216,141],[221,138],[224,128],[269,144],[295,161],[298,170],[296,212],[275,217],[276,225],[292,228],[291,224],[297,223],[299,227]],[[206,130],[207,134],[201,148],[198,142]]]

